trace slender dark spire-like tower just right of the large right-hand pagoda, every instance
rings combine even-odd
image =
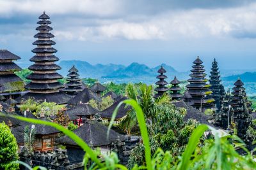
[[[212,91],[212,98],[215,100],[216,109],[219,111],[221,108],[221,99],[223,99],[223,96],[225,95],[225,90],[223,85],[221,85],[220,71],[218,70],[218,62],[214,59],[212,62],[209,82],[211,84],[210,90]]]

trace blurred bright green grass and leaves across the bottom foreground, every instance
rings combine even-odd
[[[247,155],[239,155],[232,143],[230,143],[230,140],[236,140],[240,143],[243,143],[243,141],[238,139],[237,136],[228,135],[221,137],[220,131],[207,125],[198,125],[195,128],[189,138],[188,145],[185,146],[186,149],[177,160],[173,159],[172,151],[167,150],[164,152],[161,148],[157,148],[156,152],[152,155],[150,136],[148,136],[150,133],[148,133],[149,129],[148,125],[146,125],[143,109],[132,99],[126,100],[123,103],[129,104],[134,108],[144,147],[143,155],[145,162],[140,166],[135,164],[131,169],[254,169],[256,167],[253,157],[249,152]],[[113,113],[109,129],[114,122],[117,110],[118,108]],[[59,124],[19,116],[12,117],[33,124],[50,125],[69,136],[86,152],[84,155],[84,165],[86,165],[84,169],[87,169],[87,167],[90,167],[89,169],[127,169],[127,167],[118,164],[117,155],[113,152],[109,156],[104,155],[105,161],[100,162],[98,150],[92,150],[76,134]],[[207,139],[204,146],[198,145],[204,132],[207,130],[213,134],[212,138]],[[90,160],[93,164],[90,164]]]

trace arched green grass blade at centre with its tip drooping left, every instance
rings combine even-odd
[[[125,100],[125,101],[120,102],[118,104],[118,106],[116,106],[115,111],[113,112],[113,115],[112,115],[110,123],[109,123],[108,134],[109,134],[109,131],[111,129],[111,126],[114,123],[118,108],[123,103],[131,105],[134,108],[134,110],[136,111],[136,117],[138,119],[138,123],[139,123],[139,126],[140,126],[141,137],[143,139],[143,144],[145,146],[145,159],[146,159],[147,169],[151,170],[152,169],[152,166],[151,166],[151,151],[150,151],[150,145],[149,145],[149,139],[148,139],[147,126],[146,126],[146,122],[145,122],[144,113],[143,113],[141,107],[139,106],[139,104],[136,101],[134,101],[132,99],[129,99],[129,100]]]

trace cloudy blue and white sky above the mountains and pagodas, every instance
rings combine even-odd
[[[256,70],[255,1],[0,0],[0,48],[28,62],[43,11],[61,60],[186,71],[199,55],[207,67],[216,57],[225,69]]]

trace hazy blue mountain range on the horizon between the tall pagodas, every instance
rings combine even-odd
[[[169,77],[168,81],[177,76],[180,80],[186,80],[188,73],[180,73],[172,66],[161,64],[156,67],[148,67],[145,64],[132,62],[129,66],[120,64],[96,64],[92,65],[86,61],[81,60],[62,60],[59,64],[62,69],[59,71],[63,76],[68,74],[68,69],[73,65],[79,70],[81,78],[97,78],[102,82],[114,81],[116,83],[122,82],[138,82],[153,83],[156,81],[157,70],[163,66],[166,69],[166,75]]]

